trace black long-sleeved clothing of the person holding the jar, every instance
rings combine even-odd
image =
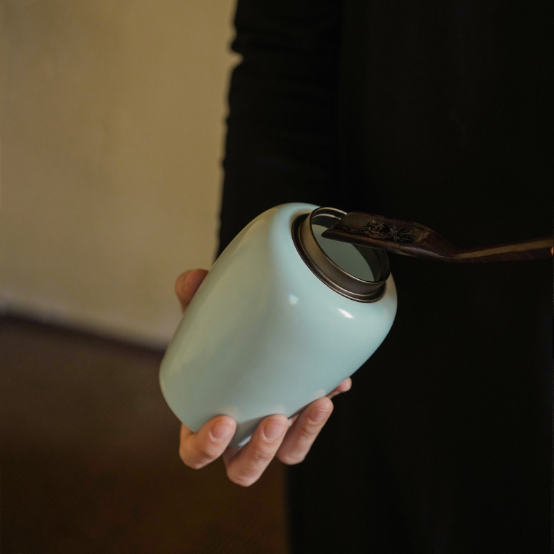
[[[242,1],[220,246],[312,202],[461,247],[552,233],[545,6]],[[539,553],[552,263],[391,260],[391,334],[289,471],[294,553]]]

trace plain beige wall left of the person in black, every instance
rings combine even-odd
[[[215,249],[234,2],[0,6],[1,309],[163,343]]]

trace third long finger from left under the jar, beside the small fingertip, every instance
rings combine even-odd
[[[303,409],[280,446],[279,460],[287,465],[303,461],[332,411],[333,403],[328,397],[319,398]]]

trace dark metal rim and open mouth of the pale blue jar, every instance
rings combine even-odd
[[[375,302],[384,293],[391,273],[386,252],[322,238],[321,233],[314,232],[329,229],[344,215],[346,212],[336,208],[317,208],[297,217],[292,224],[294,245],[307,267],[325,285],[352,300]]]

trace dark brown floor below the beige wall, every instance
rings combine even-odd
[[[283,467],[185,467],[162,352],[3,316],[0,552],[285,554]]]

